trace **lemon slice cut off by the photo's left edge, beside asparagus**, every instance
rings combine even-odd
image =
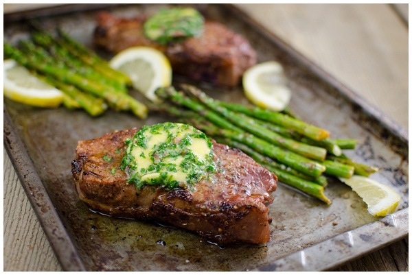
[[[63,100],[61,91],[11,59],[3,61],[3,94],[23,104],[47,108],[56,108]]]

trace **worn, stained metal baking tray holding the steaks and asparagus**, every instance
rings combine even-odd
[[[153,12],[162,5],[63,5],[5,16],[4,39],[27,38],[27,19],[38,18],[51,29],[60,25],[93,47],[95,15],[107,10],[119,16]],[[98,10],[95,10],[98,8]],[[4,100],[4,144],[63,270],[87,271],[296,271],[328,270],[408,235],[409,185],[406,130],[269,34],[231,5],[203,5],[205,16],[247,37],[258,60],[284,64],[293,88],[291,107],[333,137],[358,139],[354,160],[381,168],[372,177],[395,189],[402,200],[396,213],[376,218],[361,198],[330,179],[327,206],[288,189],[273,193],[271,240],[255,246],[216,246],[198,235],[133,219],[94,213],[79,200],[71,178],[78,140],[106,132],[167,121],[146,121],[108,111],[98,118],[80,110],[33,108]],[[56,15],[59,13],[58,15]],[[105,58],[107,53],[99,51]],[[176,80],[178,77],[175,78]],[[179,78],[179,81],[184,79]],[[241,87],[223,91],[201,85],[212,96],[246,103]]]

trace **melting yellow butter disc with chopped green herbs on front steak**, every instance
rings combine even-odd
[[[144,126],[126,145],[121,168],[139,189],[145,184],[190,188],[216,171],[211,141],[191,125]]]

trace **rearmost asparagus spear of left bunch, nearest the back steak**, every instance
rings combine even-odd
[[[102,58],[100,58],[100,56],[95,54],[93,51],[90,51],[89,49],[87,49],[87,47],[84,47],[76,40],[71,38],[62,29],[58,27],[57,31],[62,38],[61,45],[71,51],[73,55],[78,56],[78,58],[80,58],[87,64],[90,64],[94,69],[100,71],[100,73],[106,75],[107,77],[110,77],[113,80],[117,80],[128,85],[132,84],[132,81],[127,75],[112,69],[105,60],[102,60]]]

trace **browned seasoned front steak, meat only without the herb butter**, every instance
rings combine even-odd
[[[275,174],[240,150],[214,141],[217,172],[193,189],[166,190],[128,184],[120,163],[136,128],[79,141],[71,172],[80,199],[93,211],[151,219],[197,232],[214,243],[265,243],[270,239],[268,205]]]

